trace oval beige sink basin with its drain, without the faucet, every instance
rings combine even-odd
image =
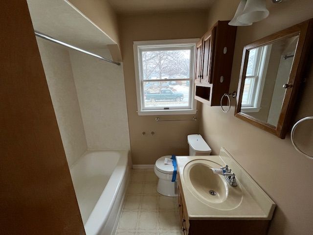
[[[224,176],[210,169],[220,167],[209,160],[194,160],[185,165],[183,177],[191,193],[205,205],[217,210],[233,210],[241,204],[243,191],[239,183],[231,187]]]

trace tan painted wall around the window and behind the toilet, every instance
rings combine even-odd
[[[156,116],[138,116],[133,42],[200,38],[206,31],[206,12],[121,16],[119,19],[127,111],[134,164],[155,164],[169,154],[188,154],[187,135],[198,132],[198,121],[156,122]],[[193,115],[179,116],[192,118]],[[178,118],[163,116],[162,118]],[[142,136],[142,132],[146,132]],[[150,133],[156,134],[152,136]]]

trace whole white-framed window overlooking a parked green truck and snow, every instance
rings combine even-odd
[[[138,115],[195,114],[198,39],[134,42]]]

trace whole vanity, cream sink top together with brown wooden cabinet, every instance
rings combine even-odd
[[[224,148],[215,156],[178,156],[177,164],[184,235],[267,234],[276,205]],[[235,173],[237,186],[210,169],[225,165]]]

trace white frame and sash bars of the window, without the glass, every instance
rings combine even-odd
[[[177,39],[177,40],[154,40],[154,41],[135,41],[134,42],[134,67],[135,67],[135,80],[136,80],[136,93],[137,93],[137,114],[139,116],[143,115],[184,115],[184,114],[196,114],[197,113],[197,101],[194,99],[194,70],[195,70],[195,52],[196,52],[196,43],[199,39]],[[170,107],[170,109],[161,109],[156,107],[146,107],[144,108],[144,92],[143,92],[143,82],[160,82],[164,81],[163,79],[155,80],[143,80],[141,79],[141,56],[140,53],[146,48],[150,47],[168,47],[168,48],[184,48],[191,47],[190,55],[190,71],[189,78],[183,79],[164,79],[168,82],[186,80],[189,81],[189,105],[187,108],[181,107]]]

